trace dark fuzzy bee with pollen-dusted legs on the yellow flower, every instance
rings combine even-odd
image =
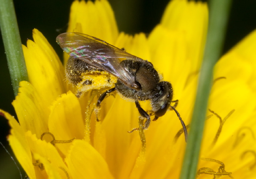
[[[143,126],[145,130],[149,127],[151,119],[150,115],[140,106],[139,101],[150,100],[152,106],[150,114],[154,115],[153,121],[162,117],[170,108],[180,119],[185,139],[187,138],[186,126],[175,109],[178,100],[172,100],[172,84],[160,80],[159,74],[151,62],[86,34],[63,33],[56,38],[56,41],[70,55],[65,71],[67,79],[71,83],[77,87],[92,85],[93,78],[86,79],[82,77],[82,74],[105,72],[106,79],[110,84],[108,87],[114,85],[100,95],[97,107],[100,107],[106,95],[117,91],[121,96],[135,101],[140,116],[145,119]],[[116,80],[111,79],[111,76],[116,77]],[[102,88],[106,87],[105,85],[106,83]],[[79,98],[83,91],[85,90],[78,88],[76,96]],[[175,104],[171,106],[171,103]],[[133,130],[138,130],[138,128]]]

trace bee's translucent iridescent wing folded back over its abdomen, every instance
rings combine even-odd
[[[76,56],[90,65],[109,72],[129,87],[138,87],[135,76],[120,65],[123,60],[135,60],[138,57],[101,39],[81,33],[63,33],[56,38],[56,41],[70,56]]]

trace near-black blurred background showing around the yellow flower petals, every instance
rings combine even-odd
[[[169,0],[162,0],[161,2],[155,0],[109,0],[109,2],[114,10],[119,31],[135,34],[139,32],[150,33],[154,26],[160,22],[163,10]],[[55,39],[67,28],[71,3],[72,0],[14,0],[22,44],[26,45],[27,39],[33,39],[32,30],[37,28],[62,57],[63,50],[57,45]],[[255,0],[233,0],[223,53],[255,29],[255,9]],[[2,40],[0,40],[0,58],[0,108],[15,116],[14,108],[11,105],[14,94]],[[12,153],[6,141],[9,130],[7,120],[0,117],[0,142]],[[12,156],[14,155],[12,154]],[[20,166],[19,168],[22,170]],[[23,171],[22,174],[25,178]],[[0,178],[20,178],[14,161],[1,146]]]

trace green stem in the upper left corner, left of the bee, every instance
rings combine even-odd
[[[28,81],[19,28],[12,0],[0,0],[0,27],[14,95],[18,94],[19,82]]]

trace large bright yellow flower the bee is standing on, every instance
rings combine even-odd
[[[188,124],[207,23],[206,4],[173,0],[148,37],[132,37],[118,33],[106,0],[74,1],[68,31],[98,37],[152,62],[172,83],[173,100],[179,100],[177,110]],[[48,41],[38,30],[33,30],[33,38],[23,46],[30,83],[20,82],[12,103],[19,123],[0,112],[9,120],[10,145],[29,178],[178,178],[185,141],[174,111],[151,122],[145,131],[146,153],[141,155],[138,132],[127,133],[138,127],[135,104],[109,96],[102,104],[102,121],[95,122],[92,115],[90,123],[86,107],[91,93],[76,98]],[[199,178],[256,177],[255,49],[256,31],[215,66]],[[148,103],[140,103],[150,110]]]

